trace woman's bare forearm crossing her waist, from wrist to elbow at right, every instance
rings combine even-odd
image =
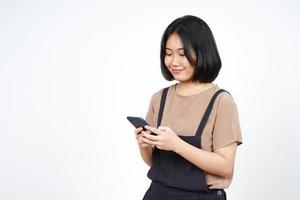
[[[222,155],[199,149],[183,140],[179,142],[175,152],[211,174],[226,177],[233,170],[233,163]]]

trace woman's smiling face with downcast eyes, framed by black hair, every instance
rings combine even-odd
[[[193,59],[195,60],[194,53]],[[181,39],[176,33],[171,34],[167,40],[165,65],[175,80],[180,82],[192,81],[195,68],[185,57]]]

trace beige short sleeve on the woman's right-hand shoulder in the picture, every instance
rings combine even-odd
[[[213,149],[237,142],[242,144],[242,134],[236,103],[233,97],[224,92],[220,95],[216,120],[213,129]]]

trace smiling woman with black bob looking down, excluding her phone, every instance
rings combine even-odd
[[[177,82],[152,96],[150,126],[135,130],[152,180],[143,199],[226,199],[242,137],[233,97],[213,83],[221,69],[213,34],[198,17],[180,17],[160,55],[164,78]]]

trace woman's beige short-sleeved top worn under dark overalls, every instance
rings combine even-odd
[[[217,84],[213,84],[198,94],[182,96],[176,93],[175,85],[173,84],[169,88],[161,126],[170,127],[178,135],[195,135],[210,99],[220,88]],[[157,127],[162,90],[152,95],[145,117],[149,125],[153,127]],[[210,117],[202,132],[201,145],[203,150],[213,152],[232,142],[242,144],[238,112],[233,97],[227,92],[222,92],[216,98]],[[211,189],[227,188],[232,177],[233,172],[227,178],[206,173],[206,182]]]

